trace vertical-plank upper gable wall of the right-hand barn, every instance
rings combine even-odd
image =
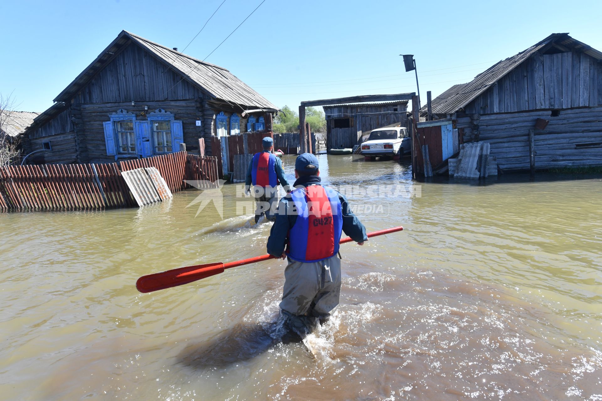
[[[585,53],[536,53],[465,107],[467,114],[602,105],[602,64]]]

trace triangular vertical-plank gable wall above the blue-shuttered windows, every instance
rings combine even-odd
[[[182,76],[131,43],[82,90],[73,103],[152,102],[202,97]]]

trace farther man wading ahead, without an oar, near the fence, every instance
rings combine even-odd
[[[287,192],[289,185],[284,177],[284,169],[280,158],[272,153],[273,139],[266,136],[261,144],[263,152],[255,153],[247,170],[247,179],[244,183],[247,195],[250,194],[250,185],[253,184],[255,196],[255,223],[265,213],[268,220],[274,220],[274,210],[278,201],[278,183]]]

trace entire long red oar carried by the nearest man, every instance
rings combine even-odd
[[[403,227],[387,228],[386,230],[368,233],[367,236],[368,238],[371,238],[379,235],[395,233],[396,231],[402,230]],[[346,243],[351,241],[352,239],[350,237],[345,237],[341,239],[339,243]],[[152,292],[170,287],[177,287],[181,286],[182,284],[192,283],[193,281],[201,280],[202,278],[207,278],[216,274],[223,273],[224,269],[249,265],[250,263],[262,262],[263,260],[268,259],[275,259],[275,257],[270,254],[265,254],[262,256],[250,257],[249,259],[236,260],[235,262],[207,263],[205,265],[187,266],[185,268],[168,270],[166,272],[148,274],[138,278],[138,281],[136,281],[136,288],[140,292]]]

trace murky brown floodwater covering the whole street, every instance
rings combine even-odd
[[[602,400],[600,177],[420,183],[403,163],[318,157],[326,183],[398,185],[348,198],[374,206],[368,231],[405,230],[341,246],[341,305],[305,343],[280,340],[282,260],[135,289],[265,253],[270,224],[236,215],[234,185],[223,220],[187,207],[199,191],[0,214],[0,399]]]

